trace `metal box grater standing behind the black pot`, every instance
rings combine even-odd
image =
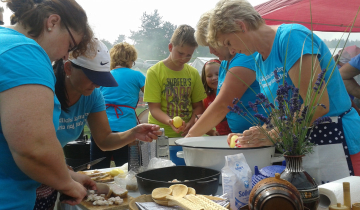
[[[155,157],[155,152],[155,140],[152,142],[137,139],[132,141],[128,144],[128,170],[135,173],[146,170],[150,159]]]

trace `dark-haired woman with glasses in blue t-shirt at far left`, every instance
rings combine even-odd
[[[56,138],[60,104],[51,62],[91,50],[92,30],[74,0],[1,0],[14,25],[0,26],[0,209],[32,209],[47,184],[74,199],[95,183],[71,178]],[[87,181],[86,181],[87,180]]]

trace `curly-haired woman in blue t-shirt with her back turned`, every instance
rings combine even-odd
[[[136,70],[130,69],[137,58],[137,52],[133,45],[126,42],[115,44],[110,49],[110,69],[111,74],[121,84],[118,86],[101,86],[100,90],[106,104],[106,115],[112,132],[122,132],[136,126],[135,108],[139,100],[139,91],[143,92],[145,76]],[[91,129],[90,129],[91,130]],[[106,157],[97,163],[92,169],[106,168],[110,166],[111,156],[116,166],[121,166],[127,162],[128,146],[111,150],[101,150],[93,138],[91,130],[91,161],[97,158]]]

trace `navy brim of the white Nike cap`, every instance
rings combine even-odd
[[[87,78],[97,85],[104,87],[116,87],[118,83],[115,78],[112,76],[110,71],[95,71],[88,68],[81,67],[82,71],[85,73]]]

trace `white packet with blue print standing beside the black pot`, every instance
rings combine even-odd
[[[251,169],[242,153],[225,156],[225,166],[221,169],[222,193],[230,198],[233,210],[248,203],[252,189]]]

